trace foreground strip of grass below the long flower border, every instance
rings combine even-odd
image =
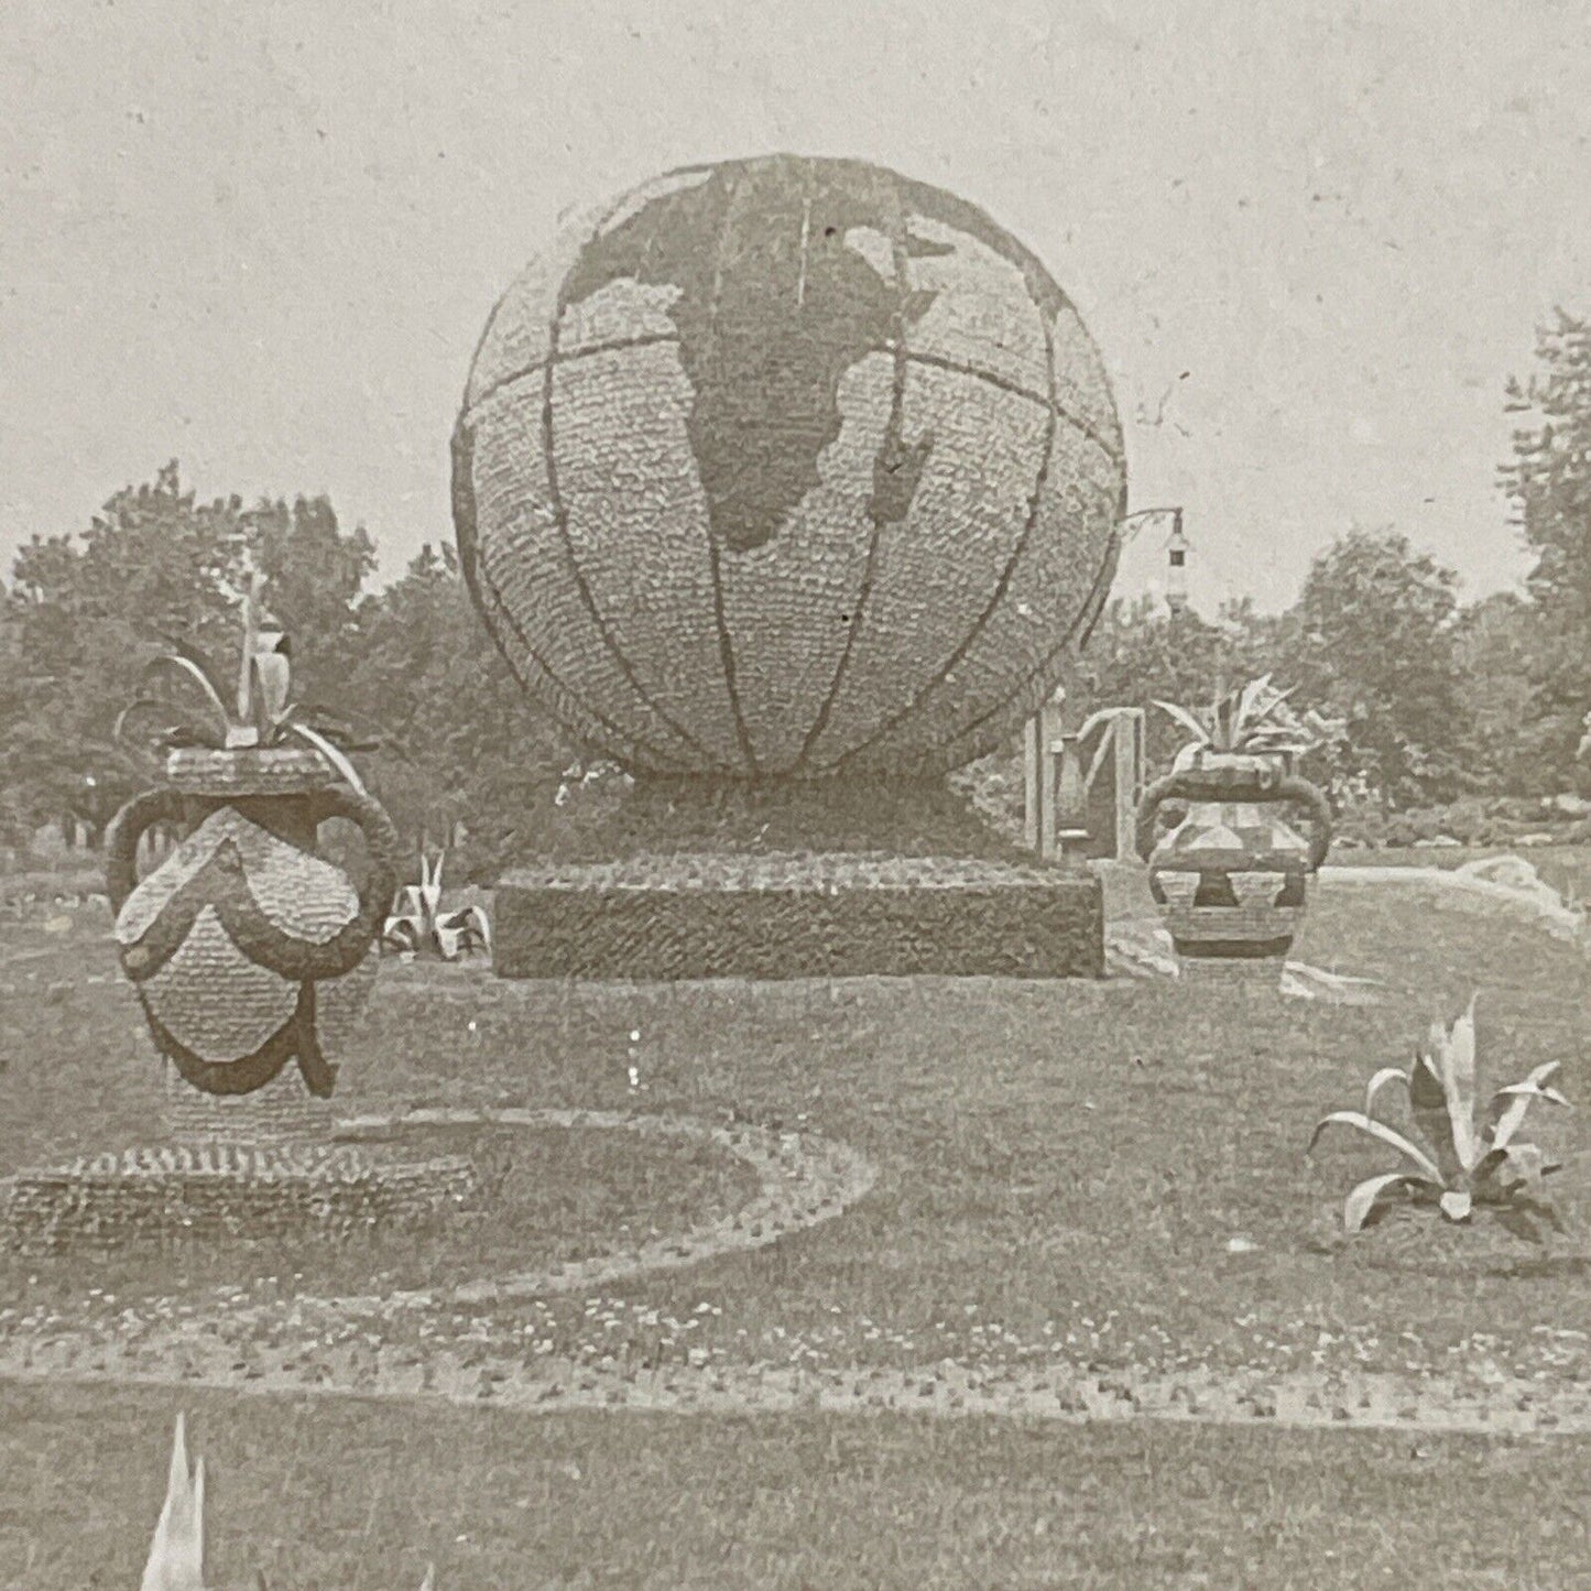
[[[216,1585],[407,1591],[426,1561],[439,1591],[1591,1583],[1591,1443],[1567,1440],[188,1406]],[[170,1418],[169,1394],[0,1384],[0,1585],[135,1585]]]

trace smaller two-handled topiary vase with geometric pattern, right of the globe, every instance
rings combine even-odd
[[[1157,842],[1166,802],[1187,802],[1187,816]],[[1308,838],[1289,807],[1306,810]],[[1324,791],[1276,756],[1201,748],[1150,784],[1138,810],[1149,889],[1185,961],[1282,961],[1330,843]]]

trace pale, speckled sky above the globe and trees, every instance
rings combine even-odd
[[[3,0],[0,95],[6,566],[175,457],[396,573],[509,277],[690,161],[872,159],[1023,237],[1196,595],[1286,603],[1354,522],[1513,582],[1503,380],[1591,310],[1585,0]]]

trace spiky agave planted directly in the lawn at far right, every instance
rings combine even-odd
[[[1432,1023],[1426,1045],[1406,1072],[1397,1066],[1376,1072],[1365,1088],[1365,1107],[1333,1111],[1309,1139],[1313,1152],[1328,1126],[1351,1126],[1395,1149],[1405,1160],[1400,1169],[1367,1177],[1348,1195],[1343,1227],[1359,1231],[1397,1196],[1435,1203],[1454,1222],[1470,1220],[1476,1206],[1494,1206],[1526,1236],[1534,1236],[1532,1216],[1556,1225],[1551,1208],[1535,1193],[1558,1166],[1546,1160],[1540,1146],[1518,1142],[1535,1099],[1567,1109],[1569,1101],[1551,1087],[1556,1074],[1558,1061],[1548,1061],[1523,1082],[1499,1088],[1476,1125],[1475,1001],[1470,999],[1451,1026]],[[1381,1090],[1392,1083],[1406,1091],[1413,1131],[1424,1144],[1373,1114]]]

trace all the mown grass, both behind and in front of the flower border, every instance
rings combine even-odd
[[[56,934],[0,924],[0,1173],[158,1131],[153,1063],[105,923],[92,908],[65,916]],[[1297,953],[1378,977],[1384,1002],[1136,980],[558,986],[391,969],[344,1079],[350,1111],[738,1115],[842,1139],[878,1166],[851,1212],[773,1247],[614,1282],[600,1300],[441,1311],[428,1333],[511,1344],[533,1314],[573,1356],[595,1319],[608,1348],[633,1336],[652,1351],[662,1317],[689,1325],[708,1368],[1058,1357],[1591,1379],[1591,963],[1418,888],[1322,889]],[[1472,990],[1483,1083],[1561,1060],[1581,1106],[1543,1109],[1529,1134],[1566,1161],[1554,1181],[1570,1235],[1546,1249],[1488,1231],[1427,1243],[1394,1222],[1338,1251],[1341,1195],[1386,1166],[1346,1139],[1311,1165],[1313,1123],[1357,1104],[1370,1072],[1406,1061],[1430,1017]],[[654,1206],[692,1219],[733,1196],[706,1161],[627,1179],[632,1149],[560,1160],[541,1146],[543,1185],[528,1166],[504,1241],[547,1241],[547,1211],[568,1209],[570,1182],[593,1166],[593,1228]],[[576,1222],[558,1241],[584,1233]],[[1233,1238],[1247,1247],[1228,1252]],[[159,1276],[185,1308],[213,1279],[202,1266]],[[108,1317],[126,1300],[107,1290],[81,1257],[0,1258],[0,1343],[45,1314]],[[0,1397],[0,1585],[29,1543],[19,1585],[132,1583],[173,1394]],[[1421,1435],[1414,1459],[1411,1433],[188,1402],[218,1475],[218,1562],[258,1564],[272,1586],[417,1585],[428,1556],[444,1591],[1591,1583],[1591,1448],[1572,1438]]]

